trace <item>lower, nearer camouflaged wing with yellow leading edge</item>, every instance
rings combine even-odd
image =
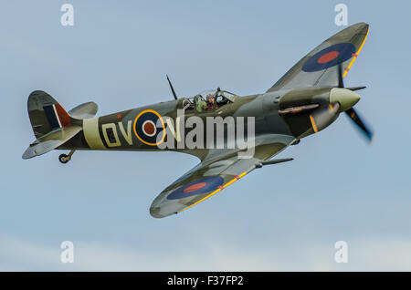
[[[260,167],[262,161],[269,160],[294,140],[288,135],[264,136],[256,141],[254,156],[249,159],[239,159],[235,150],[210,154],[209,158],[164,189],[153,201],[150,213],[153,217],[162,218],[205,201]]]

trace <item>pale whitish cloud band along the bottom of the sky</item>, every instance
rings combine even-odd
[[[193,243],[187,243],[193,244]],[[1,271],[410,271],[411,240],[348,242],[349,261],[336,264],[333,244],[289,243],[245,248],[218,238],[175,251],[114,243],[74,242],[74,263],[60,262],[59,244],[0,238]]]

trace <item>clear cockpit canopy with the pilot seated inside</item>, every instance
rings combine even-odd
[[[238,98],[237,95],[227,90],[208,89],[191,98],[185,98],[183,101],[184,109],[196,109],[198,112],[214,110],[221,108],[229,103],[234,103]]]

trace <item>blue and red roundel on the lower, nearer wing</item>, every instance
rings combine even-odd
[[[187,183],[174,192],[168,194],[168,200],[178,200],[184,197],[202,194],[205,192],[214,192],[221,186],[224,179],[221,176],[207,176],[199,180]]]

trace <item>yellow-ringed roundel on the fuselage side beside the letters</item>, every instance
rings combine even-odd
[[[153,109],[143,110],[134,120],[134,134],[147,145],[163,143],[165,127],[162,116]]]

